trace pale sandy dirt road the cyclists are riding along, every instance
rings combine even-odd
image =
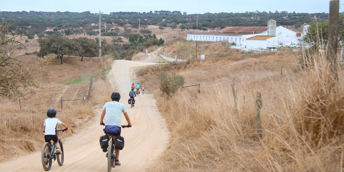
[[[125,148],[120,152],[119,157],[122,165],[117,166],[113,171],[144,171],[158,158],[168,143],[169,132],[152,95],[140,94],[135,97],[136,106],[132,109],[127,103],[130,86],[132,80],[135,79],[133,78],[134,69],[153,64],[147,61],[156,62],[158,59],[155,54],[148,57],[149,60],[142,59],[145,62],[114,61],[108,74],[110,83],[121,94],[120,103],[126,105],[132,122],[132,128],[122,129],[121,135],[125,138]],[[107,171],[107,159],[99,146],[99,137],[104,135],[104,127],[99,125],[101,109],[96,109],[96,113],[97,118],[90,121],[83,131],[64,140],[64,165],[58,166],[57,162],[54,162],[50,171]],[[123,115],[122,124],[127,124]],[[18,155],[18,158],[12,161],[0,163],[0,169],[4,172],[44,171],[41,164],[41,152],[36,151],[26,156]]]

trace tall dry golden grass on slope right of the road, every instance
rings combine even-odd
[[[335,80],[324,55],[318,54],[314,67],[284,69],[283,77],[276,78],[281,59],[273,54],[278,53],[252,55],[256,57],[251,61],[261,61],[260,66],[246,68],[247,63],[238,63],[237,72],[253,70],[261,77],[254,83],[236,80],[238,111],[232,90],[222,82],[201,89],[201,94],[196,88],[169,98],[155,93],[171,140],[148,171],[340,171],[343,71]],[[272,74],[264,75],[265,71]],[[257,91],[263,101],[261,139],[255,128]]]

